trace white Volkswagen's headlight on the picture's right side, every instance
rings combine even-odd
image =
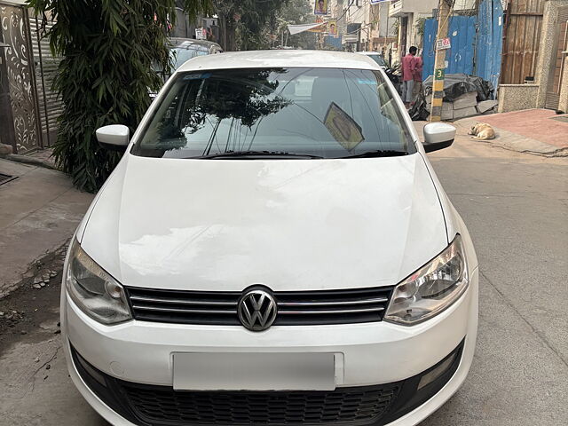
[[[394,288],[384,319],[411,326],[453,304],[469,284],[461,236]]]

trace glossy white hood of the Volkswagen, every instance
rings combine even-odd
[[[420,154],[267,161],[126,154],[93,202],[82,247],[134,287],[394,285],[447,245]]]

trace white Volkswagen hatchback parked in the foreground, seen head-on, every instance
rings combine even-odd
[[[67,254],[69,375],[114,425],[414,425],[468,374],[477,258],[363,55],[192,59]],[[459,177],[456,177],[459,178]]]

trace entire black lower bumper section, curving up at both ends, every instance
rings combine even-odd
[[[330,391],[182,391],[171,386],[126,382],[93,367],[70,346],[84,383],[106,406],[134,424],[385,425],[421,406],[441,390],[461,362],[465,339],[435,366],[394,383]],[[446,370],[439,367],[453,359]],[[430,383],[421,386],[422,378]]]

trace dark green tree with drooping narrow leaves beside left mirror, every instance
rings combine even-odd
[[[190,17],[210,12],[210,0],[185,0]],[[43,22],[51,51],[63,59],[54,79],[64,109],[53,155],[74,184],[94,192],[114,170],[120,154],[101,148],[95,130],[122,123],[136,130],[162,86],[156,68],[169,70],[167,37],[175,0],[28,0]]]

